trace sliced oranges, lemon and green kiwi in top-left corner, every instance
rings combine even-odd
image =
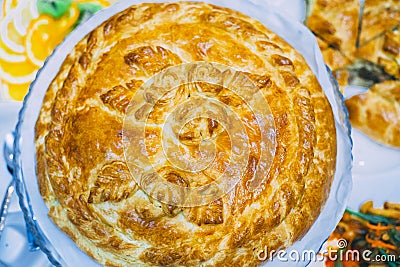
[[[4,0],[0,23],[0,99],[21,101],[44,60],[107,0]]]

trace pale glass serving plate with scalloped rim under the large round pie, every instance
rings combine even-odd
[[[69,35],[48,58],[45,66],[31,86],[24,101],[17,126],[17,141],[15,143],[15,165],[18,167],[16,179],[20,203],[32,232],[36,235],[37,243],[55,265],[63,266],[97,266],[91,258],[79,250],[72,240],[61,232],[47,217],[48,209],[41,199],[35,178],[34,156],[34,125],[39,114],[41,102],[49,83],[57,74],[58,69],[72,47],[88,32],[94,29],[106,18],[124,10],[126,7],[141,1],[122,1],[97,13],[87,23],[77,28]],[[349,137],[348,121],[343,109],[342,97],[332,85],[321,53],[313,35],[299,22],[289,22],[285,17],[272,11],[266,5],[258,6],[246,1],[209,0],[221,6],[227,6],[248,14],[286,39],[299,50],[317,75],[334,110],[337,123],[338,159],[337,173],[332,185],[329,199],[323,212],[310,231],[290,249],[302,251],[313,249],[318,251],[321,244],[330,235],[341,218],[351,189],[351,140]],[[308,261],[292,262],[292,266],[304,266]],[[268,266],[287,266],[288,263],[272,262]]]

